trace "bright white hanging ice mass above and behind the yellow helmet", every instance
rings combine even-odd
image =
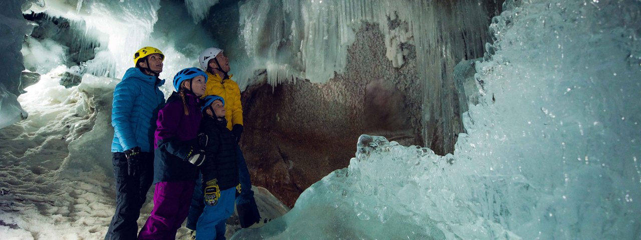
[[[87,72],[97,76],[122,76],[131,66],[131,53],[137,51],[153,32],[158,20],[159,0],[149,1],[47,1],[44,7],[34,5],[28,12],[62,17],[72,25],[85,28],[88,39],[98,38],[104,48],[87,61]],[[74,35],[80,46],[96,44]],[[131,60],[133,61],[133,60]]]

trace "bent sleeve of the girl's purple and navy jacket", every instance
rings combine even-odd
[[[167,104],[158,111],[156,120],[156,145],[180,159],[185,159],[198,140],[178,140],[180,118],[184,115],[182,105]]]

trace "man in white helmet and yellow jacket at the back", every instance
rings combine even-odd
[[[208,79],[204,96],[218,95],[225,100],[227,128],[231,130],[232,134],[236,137],[236,141],[240,141],[240,134],[242,134],[243,131],[240,88],[238,88],[236,82],[231,80],[231,76],[228,75],[230,68],[227,56],[222,53],[222,49],[210,47],[201,53],[198,61],[200,62],[201,68],[205,70]],[[240,147],[237,148],[237,156],[240,180],[240,185],[237,189],[240,191],[240,195],[236,198],[236,208],[238,218],[240,219],[240,226],[244,228],[260,227],[269,221],[269,219],[262,220],[260,218],[256,200],[254,200],[254,192],[251,190],[249,170],[247,170],[247,164],[242,156]],[[201,189],[201,182],[197,182],[194,198],[192,199],[192,206],[189,209],[189,216],[187,218],[187,228],[191,230],[196,229],[196,222],[203,212],[203,207],[203,189]]]

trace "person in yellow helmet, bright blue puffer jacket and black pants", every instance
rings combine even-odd
[[[154,130],[165,95],[158,78],[165,55],[154,47],[135,52],[133,63],[113,90],[112,162],[116,209],[104,239],[136,239],[138,217],[153,179]]]

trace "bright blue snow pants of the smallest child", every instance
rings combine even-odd
[[[225,239],[226,222],[234,213],[235,196],[236,188],[222,190],[217,204],[213,206],[204,204],[201,198],[204,210],[196,224],[196,240]]]

